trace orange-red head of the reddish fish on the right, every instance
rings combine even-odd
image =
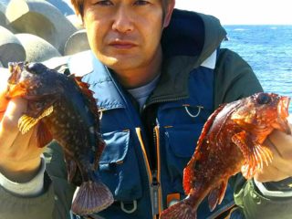
[[[287,121],[290,98],[261,92],[239,101],[231,119],[241,127],[255,132],[276,129],[291,134]]]

